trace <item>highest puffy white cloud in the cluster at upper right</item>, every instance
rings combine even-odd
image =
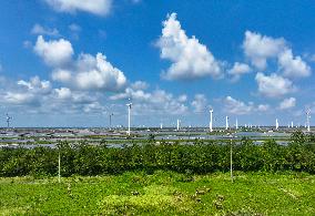
[[[282,38],[273,39],[251,31],[245,32],[243,41],[245,55],[260,70],[266,68],[268,58],[276,58],[284,48],[285,40]]]

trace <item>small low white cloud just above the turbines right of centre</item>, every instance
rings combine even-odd
[[[226,96],[224,100],[224,110],[231,114],[244,115],[250,114],[254,110],[254,104],[245,104],[244,102],[237,101],[232,96]]]

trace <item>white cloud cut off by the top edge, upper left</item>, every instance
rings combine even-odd
[[[45,2],[59,12],[84,11],[96,16],[108,14],[112,7],[112,0],[45,0]]]

